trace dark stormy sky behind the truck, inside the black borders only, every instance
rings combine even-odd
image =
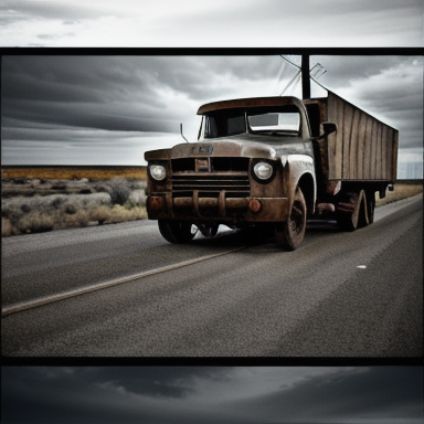
[[[400,153],[410,149],[409,155],[414,151],[422,156],[421,56],[310,57],[311,66],[318,62],[327,70],[318,80],[320,84],[399,129]],[[194,141],[200,105],[224,98],[279,95],[296,72],[278,55],[3,56],[2,157],[9,163],[28,163],[29,159],[24,158],[28,149],[12,145],[13,140],[30,144],[31,140],[56,138],[59,144],[67,144],[84,135],[81,141],[86,144],[97,137],[96,131],[107,130],[119,137],[116,139],[118,146],[121,142],[119,131],[138,131],[138,151],[132,149],[125,153],[123,150],[120,162],[130,165],[124,159],[126,155],[127,158],[137,157],[134,160],[139,163],[144,151],[158,146],[158,141],[149,145],[149,139],[144,137],[147,132],[149,137],[168,134],[172,140],[165,145],[160,136],[160,146],[169,147],[182,141],[179,126],[183,123],[184,135]],[[290,87],[285,95],[300,96],[300,84],[296,87],[297,91],[292,92]],[[51,134],[46,134],[49,126]],[[30,128],[33,131],[22,130]],[[75,135],[65,134],[66,128],[75,129]],[[84,128],[92,129],[93,135],[83,131]],[[63,135],[66,137],[61,139]],[[416,155],[413,161],[421,160]],[[62,157],[60,165],[76,165],[83,160],[78,159],[76,150],[74,155],[52,150],[52,160],[57,157]],[[400,158],[405,161],[405,156],[400,155]],[[95,160],[98,161],[99,156]],[[106,159],[104,156],[102,160],[106,163],[98,165],[107,165],[115,157]]]

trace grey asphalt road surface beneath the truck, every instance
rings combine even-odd
[[[2,240],[2,307],[222,253],[2,317],[8,357],[423,356],[422,197],[296,252],[229,232],[171,245],[142,221]],[[239,248],[241,250],[227,253]]]

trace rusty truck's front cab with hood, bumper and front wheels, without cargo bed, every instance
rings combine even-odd
[[[146,152],[149,219],[163,237],[188,242],[192,225],[271,225],[296,248],[316,201],[315,153],[306,108],[296,97],[203,105],[199,140]]]

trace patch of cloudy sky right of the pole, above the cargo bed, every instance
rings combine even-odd
[[[318,81],[400,131],[400,147],[423,145],[421,56],[312,56],[328,72]]]

